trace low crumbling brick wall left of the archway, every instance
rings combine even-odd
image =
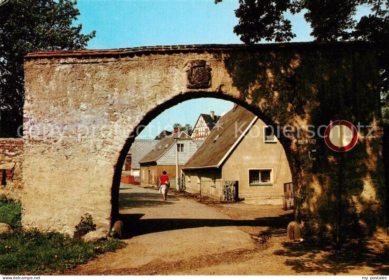
[[[23,139],[0,138],[0,196],[20,200],[23,191],[22,163]]]

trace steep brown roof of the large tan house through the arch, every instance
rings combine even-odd
[[[240,106],[223,115],[183,169],[217,167],[254,118],[256,115]],[[240,128],[237,133],[235,124]]]

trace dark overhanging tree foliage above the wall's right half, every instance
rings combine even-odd
[[[223,0],[215,0],[215,3]],[[287,14],[303,12],[312,28],[315,40],[333,42],[362,40],[373,42],[380,52],[381,93],[383,107],[389,107],[389,0],[238,0],[235,11],[238,25],[234,32],[245,44],[261,40],[286,42],[296,35],[292,31]],[[357,9],[369,7],[359,21]]]

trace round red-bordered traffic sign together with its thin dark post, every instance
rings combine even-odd
[[[324,132],[324,142],[327,146],[339,152],[339,182],[338,182],[338,226],[336,228],[336,246],[338,249],[341,244],[342,233],[342,176],[343,176],[343,155],[350,151],[358,141],[358,132],[356,127],[348,121],[339,120],[331,122]]]

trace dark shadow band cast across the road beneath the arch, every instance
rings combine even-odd
[[[124,238],[171,231],[175,229],[222,227],[222,226],[250,226],[268,227],[266,234],[285,234],[287,224],[293,220],[293,214],[278,217],[265,217],[254,220],[232,219],[140,219],[144,214],[120,214],[124,222]]]

